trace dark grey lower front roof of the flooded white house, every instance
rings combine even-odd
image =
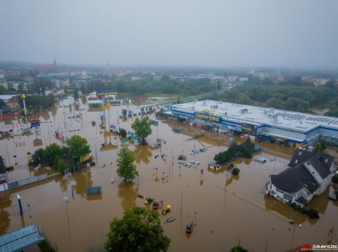
[[[289,193],[299,192],[304,187],[308,192],[313,193],[320,187],[317,180],[303,164],[287,168],[277,175],[271,175],[271,183],[278,190]]]

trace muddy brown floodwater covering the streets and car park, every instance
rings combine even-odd
[[[160,120],[158,126],[151,126],[153,132],[147,141],[155,142],[161,138],[165,142],[157,148],[130,142],[139,176],[124,182],[115,171],[120,138],[104,134],[99,127],[100,112],[88,112],[85,104],[72,110],[68,107],[70,102],[72,100],[68,98],[60,102],[54,112],[42,112],[40,133],[1,140],[1,156],[8,166],[15,167],[8,173],[8,178],[13,182],[42,173],[54,173],[48,167],[28,168],[26,154],[51,142],[62,145],[54,135],[56,130],[68,138],[72,135],[87,138],[97,166],[11,192],[1,192],[0,234],[35,224],[41,227],[46,239],[58,251],[104,251],[109,222],[113,217],[122,217],[126,209],[145,206],[144,199],[138,197],[142,195],[163,200],[163,206],[171,206],[170,213],[161,215],[165,234],[171,239],[169,251],[230,251],[237,244],[249,251],[286,251],[301,244],[327,244],[327,235],[332,228],[335,228],[334,238],[337,239],[338,203],[327,199],[328,190],[315,197],[308,206],[318,210],[318,220],[311,220],[307,215],[266,197],[265,183],[270,174],[280,173],[287,167],[293,153],[289,147],[260,142],[258,145],[263,147],[263,152],[257,155],[267,160],[265,164],[237,159],[234,163],[240,169],[238,176],[225,171],[214,173],[208,171],[208,162],[213,161],[215,154],[226,150],[229,138],[239,142],[240,138],[207,132],[204,137],[194,140],[189,134],[174,133],[171,128],[173,121]],[[106,126],[132,131],[130,125],[134,117],[118,118],[123,108],[129,110],[131,107],[111,107],[106,114]],[[133,110],[136,111],[137,107]],[[149,117],[155,119],[155,114],[149,114]],[[94,126],[92,121],[96,121]],[[1,127],[8,128],[12,123],[16,126],[16,122],[14,119],[6,124],[1,121]],[[194,131],[192,126],[179,126]],[[41,140],[41,146],[34,146],[37,138]],[[101,147],[104,142],[113,147]],[[203,147],[208,150],[189,154]],[[155,158],[157,154],[159,158]],[[161,154],[165,157],[161,158]],[[177,157],[180,154],[187,155],[187,161],[196,160],[200,164],[196,168],[179,164]],[[86,183],[101,186],[102,193],[86,195]],[[21,197],[23,216],[16,194]],[[165,223],[170,216],[175,221]],[[290,224],[290,220],[296,225]],[[187,235],[185,226],[192,221],[194,231]]]

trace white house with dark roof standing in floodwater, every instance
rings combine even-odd
[[[284,203],[304,206],[330,185],[333,169],[333,157],[297,149],[286,170],[270,175],[266,193]]]

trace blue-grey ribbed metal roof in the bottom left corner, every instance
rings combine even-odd
[[[0,237],[0,252],[21,251],[23,248],[39,244],[44,240],[35,225],[20,228]]]

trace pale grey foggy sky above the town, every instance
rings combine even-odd
[[[1,0],[0,61],[337,69],[337,0]]]

